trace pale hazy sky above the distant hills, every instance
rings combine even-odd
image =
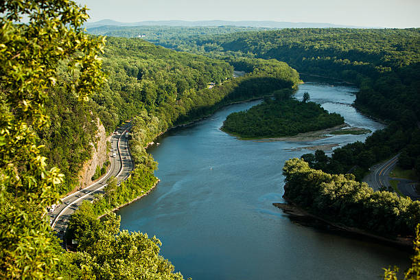
[[[89,22],[291,21],[369,27],[420,27],[420,0],[75,0]]]

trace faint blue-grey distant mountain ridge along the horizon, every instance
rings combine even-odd
[[[292,23],[286,21],[139,21],[137,23],[121,23],[111,19],[104,19],[94,23],[85,23],[84,27],[93,28],[104,25],[114,26],[141,26],[141,25],[167,25],[167,26],[238,26],[238,27],[267,27],[267,28],[380,28],[362,27],[354,25],[336,25],[332,23]]]

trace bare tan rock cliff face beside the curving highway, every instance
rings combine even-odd
[[[84,189],[92,183],[92,176],[95,174],[96,167],[102,167],[102,165],[108,160],[108,154],[106,154],[106,141],[110,141],[110,136],[106,137],[105,127],[100,124],[100,119],[97,119],[97,133],[96,133],[96,145],[92,145],[92,159],[86,161],[79,172],[80,187]],[[95,148],[96,146],[96,148]]]

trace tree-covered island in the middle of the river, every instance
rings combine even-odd
[[[226,117],[222,130],[241,138],[267,138],[292,136],[344,124],[340,115],[328,113],[314,102],[293,100],[290,93],[291,89],[276,91],[275,100],[266,98],[249,110],[232,113]]]

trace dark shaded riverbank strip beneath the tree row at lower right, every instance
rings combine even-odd
[[[305,209],[302,209],[298,205],[294,204],[288,198],[285,198],[284,196],[283,198],[286,200],[287,203],[273,203],[272,205],[278,207],[279,209],[282,209],[284,213],[290,215],[290,218],[292,218],[292,220],[299,222],[300,224],[303,224],[305,226],[313,226],[316,228],[321,228],[336,233],[344,232],[353,237],[368,237],[381,243],[386,243],[393,246],[402,246],[406,249],[411,249],[413,246],[414,239],[411,237],[395,237],[395,239],[390,239],[380,235],[375,235],[374,233],[363,231],[362,229],[357,229],[330,222],[329,220],[325,220],[324,218],[321,218],[318,215],[309,213]]]

